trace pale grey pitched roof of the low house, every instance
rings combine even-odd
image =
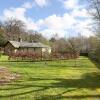
[[[28,48],[49,48],[49,46],[44,45],[43,43],[40,42],[33,42],[33,43],[29,43],[29,42],[18,42],[18,41],[8,41],[9,43],[11,43],[15,48],[20,48],[20,47],[28,47]]]

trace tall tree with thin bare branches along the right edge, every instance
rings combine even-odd
[[[98,61],[100,61],[100,0],[89,0],[90,2],[90,15],[93,17],[95,25],[93,29],[96,32],[96,47],[94,49],[94,55]]]

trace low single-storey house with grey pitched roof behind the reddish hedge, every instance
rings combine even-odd
[[[51,47],[40,42],[25,42],[25,41],[8,41],[4,47],[4,53],[8,55],[9,53],[16,53],[17,51],[23,52],[38,52],[51,53]]]

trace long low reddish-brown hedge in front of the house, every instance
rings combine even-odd
[[[75,59],[79,57],[79,53],[57,53],[52,52],[51,54],[45,53],[38,53],[38,52],[21,52],[17,51],[16,53],[9,53],[9,60],[12,59],[30,59],[30,60],[37,60],[37,59]]]

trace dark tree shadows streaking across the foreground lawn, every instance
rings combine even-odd
[[[45,81],[49,81],[49,80],[54,80],[55,82],[53,83],[48,83],[45,84]],[[44,84],[34,84],[34,82],[38,82],[38,81],[44,81]],[[28,84],[27,82],[31,82],[31,84]],[[24,84],[23,84],[24,83]],[[75,91],[77,89],[90,89],[91,91],[95,90],[96,88],[100,88],[100,73],[87,73],[85,75],[82,76],[81,79],[62,79],[62,78],[52,78],[52,79],[44,79],[44,78],[30,78],[28,80],[24,80],[16,82],[16,83],[12,83],[12,84],[8,84],[10,86],[12,86],[11,88],[5,88],[2,90],[18,90],[18,89],[28,89],[28,88],[36,88],[38,87],[39,89],[31,89],[29,91],[23,91],[21,93],[12,93],[9,95],[0,95],[0,98],[8,98],[8,97],[13,97],[13,96],[21,96],[21,95],[26,95],[26,94],[30,94],[30,93],[35,93],[35,92],[42,92],[47,89],[54,89],[54,88],[65,88],[66,91],[63,91],[60,94],[57,95],[41,95],[40,97],[37,97],[36,100],[59,100],[59,99],[68,99],[68,98],[72,98],[72,99],[81,99],[81,98],[100,98],[100,94],[98,95],[72,95],[72,96],[63,96],[63,94],[68,93],[68,92],[72,92]],[[17,87],[16,87],[17,86]],[[72,89],[69,89],[72,88]],[[1,90],[1,89],[0,89]]]

